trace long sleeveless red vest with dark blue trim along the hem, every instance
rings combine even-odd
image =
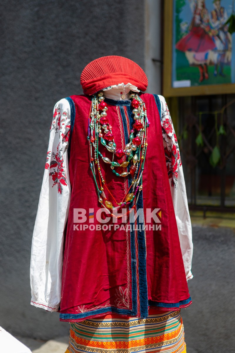
[[[158,97],[141,94],[150,126],[143,190],[136,209],[143,209],[145,224],[138,217],[135,227],[130,227],[129,216],[126,216],[125,224],[121,218],[118,219],[116,225],[119,228],[116,230],[112,219],[100,223],[95,216],[101,204],[89,166],[87,129],[91,98],[84,95],[71,98],[75,121],[70,145],[71,201],[64,249],[60,320],[82,321],[111,312],[123,317],[147,317],[150,307],[179,310],[190,305],[156,104]],[[107,116],[117,148],[124,149],[134,122],[130,101],[106,99],[105,102],[108,103]],[[99,150],[104,157],[112,156],[103,145]],[[102,160],[100,167],[113,197],[118,202],[122,201],[131,185],[131,175],[128,178],[117,177],[112,173],[110,164]],[[115,170],[122,173],[126,168]],[[105,188],[104,191],[107,199],[112,201]],[[78,209],[84,210],[82,223],[76,219]],[[157,209],[154,212],[156,217],[151,218],[149,212],[154,209]],[[108,215],[103,217],[107,221],[105,217]]]

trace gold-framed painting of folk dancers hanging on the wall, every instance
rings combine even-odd
[[[233,0],[165,0],[163,95],[235,93]]]

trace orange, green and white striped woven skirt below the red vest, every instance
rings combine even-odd
[[[180,311],[149,310],[147,318],[106,315],[71,323],[66,353],[186,353]]]

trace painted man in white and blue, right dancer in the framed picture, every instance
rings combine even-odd
[[[225,22],[228,19],[228,14],[227,10],[221,6],[220,0],[214,0],[213,4],[215,9],[211,11],[211,24],[212,27],[218,31],[217,36],[214,37],[214,42],[216,45],[214,50],[214,75],[217,76],[217,73],[219,73],[220,76],[224,77],[225,74],[223,73],[223,66],[226,61],[225,54],[228,50],[230,42],[228,26],[225,25]]]

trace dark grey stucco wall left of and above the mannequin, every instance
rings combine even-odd
[[[30,305],[31,239],[52,110],[82,93],[81,71],[99,56],[123,55],[143,67],[144,1],[2,0],[0,18],[0,325],[46,340],[69,331],[58,313]]]

